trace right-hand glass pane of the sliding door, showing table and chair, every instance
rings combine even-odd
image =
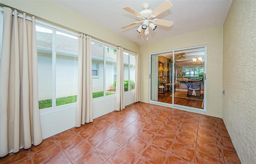
[[[204,109],[204,47],[175,51],[174,105]]]

